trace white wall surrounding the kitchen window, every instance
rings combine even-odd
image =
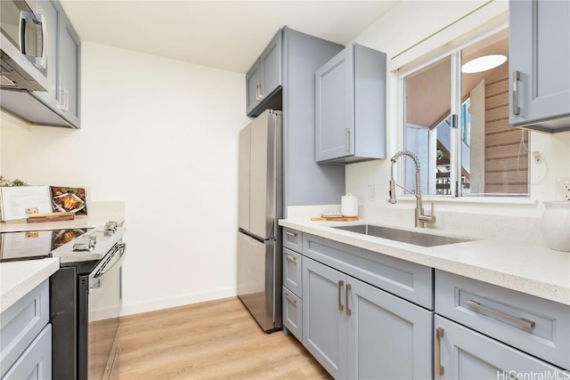
[[[395,5],[385,16],[357,36],[355,42],[386,52],[388,69],[417,59],[434,49],[453,44],[457,38],[485,24],[507,20],[509,5],[506,1],[404,1]],[[502,18],[502,19],[501,19]],[[394,64],[394,65],[393,65]],[[390,69],[389,69],[390,70]],[[403,149],[399,81],[394,72],[388,74],[387,156]],[[570,133],[531,133],[530,150],[539,150],[544,160],[531,163],[531,198],[517,199],[513,204],[495,199],[490,203],[473,203],[471,199],[454,199],[455,202],[436,204],[438,211],[465,210],[482,214],[517,214],[540,217],[540,201],[555,198],[555,182],[570,177]],[[546,165],[546,166],[545,166]],[[545,171],[545,167],[548,170]],[[361,206],[388,206],[389,159],[346,166],[346,191],[359,196]],[[376,186],[376,201],[369,201],[369,185]],[[411,198],[411,197],[410,197]],[[414,203],[401,201],[389,207],[412,208]],[[378,213],[375,213],[378,214]]]

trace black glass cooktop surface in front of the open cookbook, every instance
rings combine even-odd
[[[90,229],[34,230],[0,233],[0,263],[43,259],[53,249]]]

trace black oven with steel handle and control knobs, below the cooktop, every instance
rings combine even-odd
[[[104,249],[102,258],[94,248],[85,250],[83,261],[77,261],[81,252],[70,252],[68,245],[53,251],[61,259],[60,270],[50,278],[54,379],[109,379],[117,358],[126,248],[122,233],[94,230],[75,241],[94,235],[104,240],[94,246]]]

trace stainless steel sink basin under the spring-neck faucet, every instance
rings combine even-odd
[[[421,247],[436,247],[446,244],[462,243],[469,239],[449,238],[445,236],[431,235],[428,233],[414,232],[411,230],[397,230],[388,227],[380,227],[372,224],[354,224],[350,226],[333,227],[338,230],[349,230],[363,235],[377,238],[401,241]]]

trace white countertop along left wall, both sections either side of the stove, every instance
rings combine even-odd
[[[105,222],[125,222],[124,202],[92,202],[89,214],[76,216],[72,221],[34,222],[25,220],[2,222],[0,231],[61,230],[102,227]],[[23,295],[41,284],[60,269],[60,259],[50,257],[41,260],[0,263],[0,312],[16,303]]]

